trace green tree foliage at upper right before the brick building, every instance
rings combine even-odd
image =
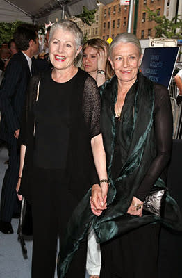
[[[169,20],[165,15],[158,16],[157,10],[152,11],[147,7],[145,11],[148,14],[148,20],[157,23],[157,26],[154,27],[156,29],[156,38],[182,38],[182,19],[179,18],[179,15]]]

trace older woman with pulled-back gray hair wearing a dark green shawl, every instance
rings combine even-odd
[[[145,215],[143,210],[151,189],[165,188],[172,109],[167,88],[139,72],[141,59],[140,42],[131,33],[117,35],[110,45],[115,76],[101,88],[108,177],[90,188],[69,220],[59,278],[90,225],[101,243],[100,278],[156,278],[160,224],[182,230],[179,207],[169,194],[163,215]]]

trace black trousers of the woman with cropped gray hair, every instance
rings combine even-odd
[[[32,278],[53,278],[57,240],[64,240],[65,228],[78,200],[67,188],[60,170],[33,170],[33,257]],[[61,250],[60,250],[61,252]],[[65,278],[85,277],[87,243],[76,252]]]

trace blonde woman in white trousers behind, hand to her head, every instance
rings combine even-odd
[[[108,44],[99,38],[88,40],[83,45],[83,70],[97,82],[98,87],[112,76],[108,61]],[[96,242],[94,231],[88,235],[88,254],[86,269],[90,278],[99,278],[101,268],[100,245]]]

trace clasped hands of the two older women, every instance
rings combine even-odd
[[[99,184],[94,184],[92,186],[92,196],[90,197],[90,206],[92,213],[94,215],[101,215],[102,211],[107,208],[106,199],[108,189],[106,190],[106,186],[99,186]]]

